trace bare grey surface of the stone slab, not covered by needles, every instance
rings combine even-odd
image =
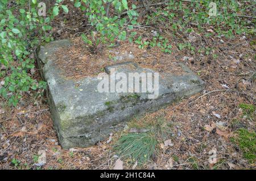
[[[159,73],[158,92],[133,92],[134,89],[128,89],[130,92],[100,92],[98,85],[102,79],[65,78],[61,68],[54,64],[56,51],[69,45],[69,40],[53,41],[41,46],[36,53],[40,73],[48,85],[47,97],[52,119],[64,149],[94,145],[109,137],[110,133],[123,128],[131,117],[156,111],[204,89],[204,82],[197,75],[184,64],[177,63],[183,73]],[[114,75],[111,73],[113,69],[115,73],[124,73],[127,77],[129,73],[151,73],[153,78],[156,77],[154,70],[142,68],[132,60],[106,66],[105,75]],[[126,83],[129,87],[129,81]],[[139,83],[142,86],[143,79]],[[152,86],[155,85],[156,82],[152,81]],[[149,95],[155,93],[158,94],[154,99],[149,98]]]

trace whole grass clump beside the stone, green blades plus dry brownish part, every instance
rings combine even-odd
[[[128,125],[135,129],[135,133],[124,133],[114,150],[120,158],[127,158],[130,163],[138,162],[139,165],[157,154],[156,144],[167,140],[172,134],[172,125],[164,117],[144,121],[134,118]]]

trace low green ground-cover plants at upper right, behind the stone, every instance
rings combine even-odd
[[[255,28],[248,28],[246,21],[240,17],[240,14],[246,15],[246,9],[251,9],[253,5],[233,0],[214,1],[217,12],[216,15],[210,16],[209,5],[212,2],[210,0],[192,0],[184,5],[183,1],[170,0],[164,8],[158,7],[150,15],[147,15],[146,24],[162,24],[165,29],[169,30],[168,33],[162,31],[162,36],[172,36],[178,41],[181,40],[178,48],[180,50],[189,49],[192,54],[197,51],[201,52],[201,48],[205,47],[204,52],[209,55],[212,49],[208,47],[206,41],[207,45],[204,46],[194,47],[195,44],[194,46],[189,45],[183,37],[188,36],[191,32],[200,33],[207,38],[216,35],[225,35],[228,38],[232,38],[235,35],[241,35],[241,33],[255,32]],[[255,2],[253,4],[255,5]],[[253,19],[252,22],[255,22],[255,20]],[[192,24],[196,28],[191,28]]]

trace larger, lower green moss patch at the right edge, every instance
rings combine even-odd
[[[256,133],[245,128],[240,128],[235,133],[237,135],[232,137],[231,141],[237,144],[243,152],[243,156],[253,163],[256,159]]]

